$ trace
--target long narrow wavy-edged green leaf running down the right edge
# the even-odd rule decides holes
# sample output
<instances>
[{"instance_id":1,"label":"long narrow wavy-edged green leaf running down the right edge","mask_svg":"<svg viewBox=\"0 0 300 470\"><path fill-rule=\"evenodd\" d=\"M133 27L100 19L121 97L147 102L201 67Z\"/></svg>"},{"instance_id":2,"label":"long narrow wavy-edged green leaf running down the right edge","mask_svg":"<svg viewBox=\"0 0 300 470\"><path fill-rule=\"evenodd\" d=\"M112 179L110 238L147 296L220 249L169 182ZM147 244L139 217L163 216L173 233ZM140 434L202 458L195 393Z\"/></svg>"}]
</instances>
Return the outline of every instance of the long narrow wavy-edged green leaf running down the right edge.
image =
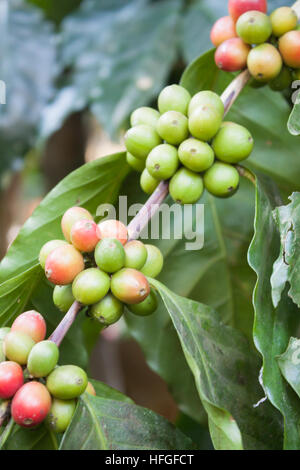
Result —
<instances>
[{"instance_id":1,"label":"long narrow wavy-edged green leaf running down the right edge","mask_svg":"<svg viewBox=\"0 0 300 470\"><path fill-rule=\"evenodd\" d=\"M266 176L257 177L255 235L249 263L257 274L253 303L254 341L263 357L262 384L271 403L284 416L285 449L300 449L300 402L280 373L276 356L287 348L300 326L299 311L286 293L278 307L272 303L270 277L278 255L279 235L272 211L280 204L276 185Z\"/></svg>"}]
</instances>

